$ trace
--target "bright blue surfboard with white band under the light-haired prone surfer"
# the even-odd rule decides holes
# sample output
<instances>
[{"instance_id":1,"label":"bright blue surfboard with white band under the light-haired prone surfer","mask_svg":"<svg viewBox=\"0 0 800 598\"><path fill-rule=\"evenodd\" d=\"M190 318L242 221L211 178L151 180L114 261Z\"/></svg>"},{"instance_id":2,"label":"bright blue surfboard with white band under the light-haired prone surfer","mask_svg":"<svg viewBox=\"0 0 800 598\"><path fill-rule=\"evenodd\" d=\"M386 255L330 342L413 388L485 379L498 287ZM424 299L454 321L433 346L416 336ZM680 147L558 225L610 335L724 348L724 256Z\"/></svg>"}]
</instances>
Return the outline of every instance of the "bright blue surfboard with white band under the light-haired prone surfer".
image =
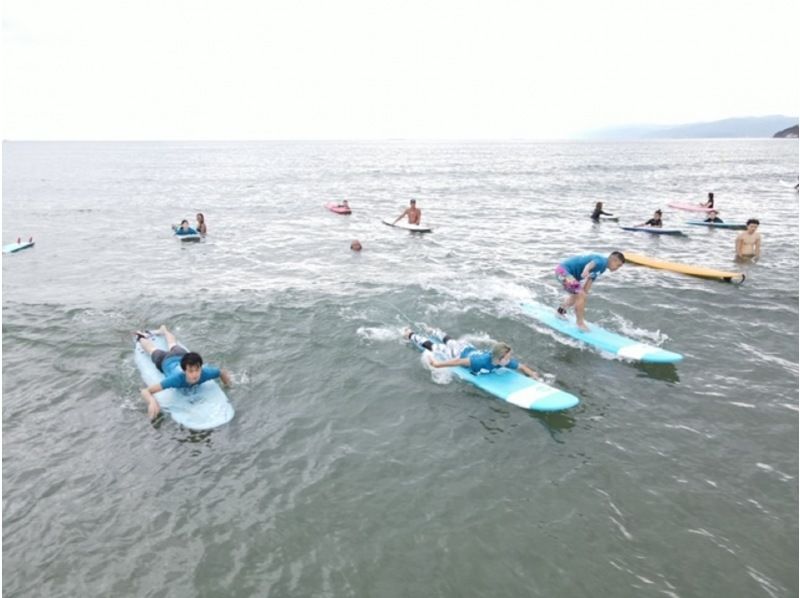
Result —
<instances>
[{"instance_id":1,"label":"bright blue surfboard with white band under the light-haired prone surfer","mask_svg":"<svg viewBox=\"0 0 800 598\"><path fill-rule=\"evenodd\" d=\"M437 361L444 361L450 357L444 353L444 346L441 339L431 336L433 351L412 343L417 350L423 353L430 353ZM437 345L440 347L437 350ZM570 409L580 403L578 397L553 388L544 382L539 382L533 378L528 378L515 370L499 368L491 373L473 374L469 368L456 366L447 368L456 377L465 382L480 388L495 398L498 398L517 407L530 411L563 411Z\"/></svg>"}]
</instances>

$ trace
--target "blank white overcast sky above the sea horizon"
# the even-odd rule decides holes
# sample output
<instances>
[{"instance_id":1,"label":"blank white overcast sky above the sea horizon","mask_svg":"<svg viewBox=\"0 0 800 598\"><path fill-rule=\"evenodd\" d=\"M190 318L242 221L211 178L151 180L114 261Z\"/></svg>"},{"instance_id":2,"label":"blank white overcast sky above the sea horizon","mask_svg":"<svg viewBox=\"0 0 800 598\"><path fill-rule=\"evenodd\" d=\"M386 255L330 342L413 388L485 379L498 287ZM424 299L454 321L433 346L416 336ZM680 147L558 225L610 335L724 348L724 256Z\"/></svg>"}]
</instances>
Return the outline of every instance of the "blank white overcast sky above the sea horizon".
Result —
<instances>
[{"instance_id":1,"label":"blank white overcast sky above the sea horizon","mask_svg":"<svg viewBox=\"0 0 800 598\"><path fill-rule=\"evenodd\" d=\"M797 0L5 0L4 139L553 139L797 115Z\"/></svg>"}]
</instances>

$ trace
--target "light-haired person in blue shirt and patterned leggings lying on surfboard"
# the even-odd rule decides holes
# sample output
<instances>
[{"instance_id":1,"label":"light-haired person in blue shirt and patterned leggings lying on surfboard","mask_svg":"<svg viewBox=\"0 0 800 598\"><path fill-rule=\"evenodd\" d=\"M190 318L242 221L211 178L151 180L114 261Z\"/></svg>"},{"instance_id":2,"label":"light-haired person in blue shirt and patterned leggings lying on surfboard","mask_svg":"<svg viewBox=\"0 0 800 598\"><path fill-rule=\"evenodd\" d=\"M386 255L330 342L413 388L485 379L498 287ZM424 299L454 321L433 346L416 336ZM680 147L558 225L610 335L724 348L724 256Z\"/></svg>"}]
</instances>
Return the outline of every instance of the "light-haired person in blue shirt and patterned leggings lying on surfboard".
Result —
<instances>
[{"instance_id":1,"label":"light-haired person in blue shirt and patterned leggings lying on surfboard","mask_svg":"<svg viewBox=\"0 0 800 598\"><path fill-rule=\"evenodd\" d=\"M416 334L410 328L403 330L403 338L410 340L416 345L433 352L434 344L430 339ZM529 378L541 380L541 376L524 363L518 362L511 357L511 347L506 343L496 343L491 351L479 351L475 346L466 341L453 340L446 334L442 338L442 344L435 345L437 352L450 357L446 361L437 361L433 357L428 359L428 363L434 368L452 368L463 366L469 368L473 374L491 373L498 368L508 368L519 370Z\"/></svg>"}]
</instances>

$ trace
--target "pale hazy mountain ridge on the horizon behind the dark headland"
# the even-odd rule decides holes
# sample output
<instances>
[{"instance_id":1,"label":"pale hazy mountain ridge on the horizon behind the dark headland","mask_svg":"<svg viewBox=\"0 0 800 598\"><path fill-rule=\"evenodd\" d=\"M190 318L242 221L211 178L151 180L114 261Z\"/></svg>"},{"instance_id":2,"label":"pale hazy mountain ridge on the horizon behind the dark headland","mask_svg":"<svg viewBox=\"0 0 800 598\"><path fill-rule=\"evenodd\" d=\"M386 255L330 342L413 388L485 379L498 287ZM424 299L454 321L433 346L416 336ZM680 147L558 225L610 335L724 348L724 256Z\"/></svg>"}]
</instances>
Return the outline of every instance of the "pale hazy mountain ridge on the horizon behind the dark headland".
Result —
<instances>
[{"instance_id":1,"label":"pale hazy mountain ridge on the horizon behind the dark headland","mask_svg":"<svg viewBox=\"0 0 800 598\"><path fill-rule=\"evenodd\" d=\"M749 116L686 125L627 125L588 131L587 139L696 139L772 137L777 130L797 126L796 116Z\"/></svg>"}]
</instances>

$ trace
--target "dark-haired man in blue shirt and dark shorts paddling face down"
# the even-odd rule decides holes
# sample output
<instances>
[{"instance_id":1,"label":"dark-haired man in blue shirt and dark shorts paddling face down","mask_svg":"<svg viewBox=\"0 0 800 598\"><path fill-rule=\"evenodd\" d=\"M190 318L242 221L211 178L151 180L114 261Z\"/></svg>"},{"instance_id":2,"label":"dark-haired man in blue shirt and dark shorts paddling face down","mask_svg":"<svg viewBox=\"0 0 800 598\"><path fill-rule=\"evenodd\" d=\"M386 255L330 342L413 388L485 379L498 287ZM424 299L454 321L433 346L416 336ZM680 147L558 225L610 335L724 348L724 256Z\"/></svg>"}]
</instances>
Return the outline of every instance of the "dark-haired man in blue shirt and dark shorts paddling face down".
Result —
<instances>
[{"instance_id":1,"label":"dark-haired man in blue shirt and dark shorts paddling face down","mask_svg":"<svg viewBox=\"0 0 800 598\"><path fill-rule=\"evenodd\" d=\"M167 351L156 347L155 343L144 332L136 331L136 340L150 356L158 370L164 374L161 382L151 384L142 389L142 398L147 402L147 415L152 420L161 407L155 395L167 388L192 388L206 380L220 378L225 386L231 385L231 375L227 370L213 366L204 366L199 354L187 351L179 346L175 336L163 324L156 334L161 334L167 341Z\"/></svg>"}]
</instances>

